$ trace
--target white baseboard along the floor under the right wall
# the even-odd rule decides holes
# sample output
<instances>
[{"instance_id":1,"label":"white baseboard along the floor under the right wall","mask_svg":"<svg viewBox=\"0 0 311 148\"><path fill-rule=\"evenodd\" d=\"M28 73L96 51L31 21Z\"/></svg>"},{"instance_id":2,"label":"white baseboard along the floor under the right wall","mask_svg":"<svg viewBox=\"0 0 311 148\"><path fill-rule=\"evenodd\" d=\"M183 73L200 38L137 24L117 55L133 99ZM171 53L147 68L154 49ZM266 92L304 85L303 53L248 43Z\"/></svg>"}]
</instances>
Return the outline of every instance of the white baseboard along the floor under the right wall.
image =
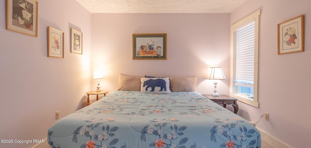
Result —
<instances>
[{"instance_id":1,"label":"white baseboard along the floor under the right wall","mask_svg":"<svg viewBox=\"0 0 311 148\"><path fill-rule=\"evenodd\" d=\"M272 146L273 148L291 148L290 146L288 146L285 143L279 141L278 139L276 139L275 137L269 135L268 133L260 130L259 128L257 128L257 129L260 132L261 139L263 141L265 141L267 144L269 144L270 146Z\"/></svg>"}]
</instances>

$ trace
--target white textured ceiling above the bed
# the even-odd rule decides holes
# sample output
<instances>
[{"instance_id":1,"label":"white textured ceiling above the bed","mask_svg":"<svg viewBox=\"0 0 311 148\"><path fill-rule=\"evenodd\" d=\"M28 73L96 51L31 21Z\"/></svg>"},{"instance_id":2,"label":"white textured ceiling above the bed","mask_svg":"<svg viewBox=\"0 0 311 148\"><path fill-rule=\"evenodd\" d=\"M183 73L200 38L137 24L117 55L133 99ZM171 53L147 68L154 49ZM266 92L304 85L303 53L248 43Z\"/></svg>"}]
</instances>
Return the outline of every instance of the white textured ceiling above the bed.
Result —
<instances>
[{"instance_id":1,"label":"white textured ceiling above the bed","mask_svg":"<svg viewBox=\"0 0 311 148\"><path fill-rule=\"evenodd\" d=\"M231 13L246 0L77 0L90 13Z\"/></svg>"}]
</instances>

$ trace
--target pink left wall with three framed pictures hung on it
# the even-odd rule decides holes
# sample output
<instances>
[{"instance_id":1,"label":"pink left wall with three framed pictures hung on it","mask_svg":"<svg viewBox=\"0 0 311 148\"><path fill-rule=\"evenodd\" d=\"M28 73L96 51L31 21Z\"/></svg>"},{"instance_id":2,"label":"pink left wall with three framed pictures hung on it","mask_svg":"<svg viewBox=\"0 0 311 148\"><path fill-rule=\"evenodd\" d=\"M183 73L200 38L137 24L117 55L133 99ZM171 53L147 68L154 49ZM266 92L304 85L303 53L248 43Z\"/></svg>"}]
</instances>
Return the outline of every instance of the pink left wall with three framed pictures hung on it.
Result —
<instances>
[{"instance_id":1,"label":"pink left wall with three framed pictures hung on it","mask_svg":"<svg viewBox=\"0 0 311 148\"><path fill-rule=\"evenodd\" d=\"M45 139L55 112L65 116L82 108L91 88L91 14L75 0L38 1L38 37L6 30L0 2L0 139ZM65 33L64 59L47 57L47 26ZM70 53L71 27L83 32L83 55Z\"/></svg>"}]
</instances>

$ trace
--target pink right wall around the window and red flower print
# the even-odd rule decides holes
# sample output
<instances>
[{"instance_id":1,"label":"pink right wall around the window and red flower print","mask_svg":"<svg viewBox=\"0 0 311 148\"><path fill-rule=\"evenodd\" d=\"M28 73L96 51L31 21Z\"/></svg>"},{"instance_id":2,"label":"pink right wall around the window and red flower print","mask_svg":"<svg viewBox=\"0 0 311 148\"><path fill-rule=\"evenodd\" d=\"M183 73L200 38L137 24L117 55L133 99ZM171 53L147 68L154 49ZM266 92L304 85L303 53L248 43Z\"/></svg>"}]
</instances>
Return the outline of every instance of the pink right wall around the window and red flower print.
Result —
<instances>
[{"instance_id":1,"label":"pink right wall around the window and red flower print","mask_svg":"<svg viewBox=\"0 0 311 148\"><path fill-rule=\"evenodd\" d=\"M259 26L259 108L240 103L239 115L292 148L309 148L311 83L311 1L248 0L231 13L231 24L261 9ZM277 54L277 24L305 15L305 51Z\"/></svg>"}]
</instances>

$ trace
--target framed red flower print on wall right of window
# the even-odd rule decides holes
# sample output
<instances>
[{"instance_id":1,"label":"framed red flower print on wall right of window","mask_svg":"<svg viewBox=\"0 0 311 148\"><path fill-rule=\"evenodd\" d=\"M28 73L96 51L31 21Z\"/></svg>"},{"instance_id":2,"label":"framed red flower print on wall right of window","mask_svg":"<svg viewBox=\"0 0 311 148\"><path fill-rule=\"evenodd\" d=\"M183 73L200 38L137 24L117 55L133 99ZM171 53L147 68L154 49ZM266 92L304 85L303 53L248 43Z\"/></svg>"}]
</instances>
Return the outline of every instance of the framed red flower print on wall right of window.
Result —
<instances>
[{"instance_id":1,"label":"framed red flower print on wall right of window","mask_svg":"<svg viewBox=\"0 0 311 148\"><path fill-rule=\"evenodd\" d=\"M277 24L277 54L304 51L304 16Z\"/></svg>"}]
</instances>

